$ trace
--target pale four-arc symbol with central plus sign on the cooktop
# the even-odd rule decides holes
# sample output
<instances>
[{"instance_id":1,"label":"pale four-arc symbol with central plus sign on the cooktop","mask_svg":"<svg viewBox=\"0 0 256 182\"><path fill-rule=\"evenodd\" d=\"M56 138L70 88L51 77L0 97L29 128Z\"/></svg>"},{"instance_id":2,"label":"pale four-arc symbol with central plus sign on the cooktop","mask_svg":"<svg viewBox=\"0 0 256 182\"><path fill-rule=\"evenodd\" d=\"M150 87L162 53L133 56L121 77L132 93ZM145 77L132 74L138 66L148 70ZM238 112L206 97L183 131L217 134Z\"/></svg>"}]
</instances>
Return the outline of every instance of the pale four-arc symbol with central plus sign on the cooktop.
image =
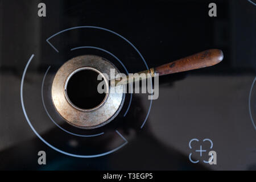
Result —
<instances>
[{"instance_id":1,"label":"pale four-arc symbol with central plus sign on the cooktop","mask_svg":"<svg viewBox=\"0 0 256 182\"><path fill-rule=\"evenodd\" d=\"M193 143L195 143L195 142L199 142L199 139L193 138L193 139L191 139L191 140L189 141L188 146L189 146L189 148L190 148L191 150L192 150L192 148L193 148L193 147L192 147L192 146L193 146ZM209 144L206 144L207 142L210 144L210 148L209 148ZM205 144L204 144L204 143L205 143ZM189 154L188 158L189 158L190 162L192 162L192 163L199 163L199 160L192 160L192 158L191 158L192 154L195 154L195 153L200 154L200 158L201 158L201 157L203 156L203 154L204 154L205 152L207 152L206 149L212 149L212 148L213 148L213 142L212 142L212 140L210 140L210 139L208 139L208 138L205 138L205 139L203 140L203 144L201 144L201 145L199 146L199 148L196 148L196 149L193 148L193 152L191 152L191 153ZM216 158L217 158L216 152L215 152L215 151L209 151L209 156L210 156L209 160L203 160L203 162L204 162L204 163L209 163L209 164L217 164L217 163L216 163Z\"/></svg>"}]
</instances>

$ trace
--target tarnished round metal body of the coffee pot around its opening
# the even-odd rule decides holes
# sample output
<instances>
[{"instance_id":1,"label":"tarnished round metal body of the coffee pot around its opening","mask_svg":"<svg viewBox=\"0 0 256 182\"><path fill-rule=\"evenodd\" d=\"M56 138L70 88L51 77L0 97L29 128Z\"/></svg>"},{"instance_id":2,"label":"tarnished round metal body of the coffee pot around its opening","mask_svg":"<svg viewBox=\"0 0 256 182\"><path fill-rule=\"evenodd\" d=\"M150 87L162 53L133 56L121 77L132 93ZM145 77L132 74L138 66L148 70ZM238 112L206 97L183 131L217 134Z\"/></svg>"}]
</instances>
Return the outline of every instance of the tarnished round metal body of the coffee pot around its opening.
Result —
<instances>
[{"instance_id":1,"label":"tarnished round metal body of the coffee pot around its opening","mask_svg":"<svg viewBox=\"0 0 256 182\"><path fill-rule=\"evenodd\" d=\"M85 55L75 57L67 61L57 71L52 83L52 102L57 112L69 124L82 128L94 129L101 127L112 121L112 119L119 113L123 105L125 94L123 85L110 87L109 93L100 105L92 109L80 109L72 105L67 96L65 88L67 86L67 79L77 69L96 69L99 73L106 73L110 78L110 69L115 69L115 73L119 73L118 69L114 67L108 60L94 55ZM106 82L108 84L108 81ZM115 89L115 92L113 90ZM66 94L65 94L66 93Z\"/></svg>"}]
</instances>

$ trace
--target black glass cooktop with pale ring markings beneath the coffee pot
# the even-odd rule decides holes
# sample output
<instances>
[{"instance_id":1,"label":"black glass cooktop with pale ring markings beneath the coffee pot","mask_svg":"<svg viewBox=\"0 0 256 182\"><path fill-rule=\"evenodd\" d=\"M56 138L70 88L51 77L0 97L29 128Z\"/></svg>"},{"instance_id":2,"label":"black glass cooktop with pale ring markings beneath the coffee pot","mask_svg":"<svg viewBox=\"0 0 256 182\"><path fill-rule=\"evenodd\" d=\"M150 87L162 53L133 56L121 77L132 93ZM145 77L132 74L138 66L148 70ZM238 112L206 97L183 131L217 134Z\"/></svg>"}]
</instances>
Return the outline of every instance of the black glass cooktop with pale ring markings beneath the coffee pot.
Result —
<instances>
[{"instance_id":1,"label":"black glass cooktop with pale ring markings beneath the coffee pot","mask_svg":"<svg viewBox=\"0 0 256 182\"><path fill-rule=\"evenodd\" d=\"M255 170L254 2L0 1L0 169ZM97 129L69 125L52 104L73 57L127 75L206 49L224 59L160 76L155 100L126 93Z\"/></svg>"}]
</instances>

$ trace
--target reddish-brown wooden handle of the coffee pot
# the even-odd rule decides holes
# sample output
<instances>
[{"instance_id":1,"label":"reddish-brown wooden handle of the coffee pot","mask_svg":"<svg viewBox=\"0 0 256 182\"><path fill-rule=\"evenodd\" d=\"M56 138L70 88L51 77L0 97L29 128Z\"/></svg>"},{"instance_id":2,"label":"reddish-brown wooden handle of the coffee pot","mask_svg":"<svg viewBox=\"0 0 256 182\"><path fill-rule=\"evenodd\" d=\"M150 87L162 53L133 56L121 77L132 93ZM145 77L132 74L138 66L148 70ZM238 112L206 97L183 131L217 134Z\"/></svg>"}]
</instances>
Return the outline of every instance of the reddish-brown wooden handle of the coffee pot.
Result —
<instances>
[{"instance_id":1,"label":"reddish-brown wooden handle of the coffee pot","mask_svg":"<svg viewBox=\"0 0 256 182\"><path fill-rule=\"evenodd\" d=\"M220 49L208 49L188 57L173 61L154 68L155 73L168 75L171 73L184 72L192 69L210 67L223 60L223 52Z\"/></svg>"}]
</instances>

